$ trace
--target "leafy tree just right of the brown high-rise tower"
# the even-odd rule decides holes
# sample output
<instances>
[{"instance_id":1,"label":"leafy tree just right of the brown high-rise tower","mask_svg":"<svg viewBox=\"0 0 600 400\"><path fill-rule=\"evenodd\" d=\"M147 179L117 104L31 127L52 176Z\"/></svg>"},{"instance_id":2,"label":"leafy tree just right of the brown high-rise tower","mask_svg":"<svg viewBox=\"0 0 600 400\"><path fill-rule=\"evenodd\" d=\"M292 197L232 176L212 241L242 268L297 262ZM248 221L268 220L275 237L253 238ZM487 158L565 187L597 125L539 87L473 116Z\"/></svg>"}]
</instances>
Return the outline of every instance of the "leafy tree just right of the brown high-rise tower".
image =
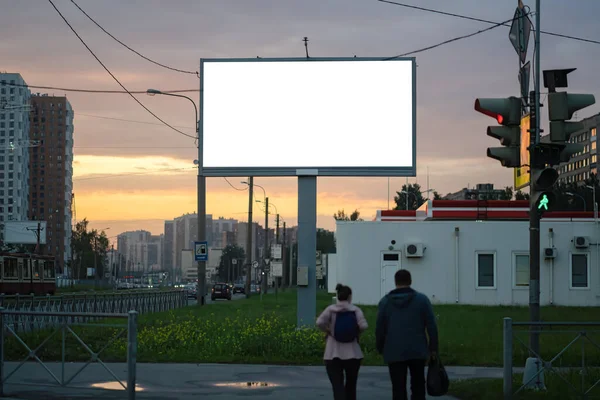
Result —
<instances>
[{"instance_id":1,"label":"leafy tree just right of the brown high-rise tower","mask_svg":"<svg viewBox=\"0 0 600 400\"><path fill-rule=\"evenodd\" d=\"M71 237L73 254L73 277L83 279L87 269L97 267L96 278L104 276L106 254L108 253L108 238L104 231L88 231L89 221L83 219L75 225Z\"/></svg>"}]
</instances>

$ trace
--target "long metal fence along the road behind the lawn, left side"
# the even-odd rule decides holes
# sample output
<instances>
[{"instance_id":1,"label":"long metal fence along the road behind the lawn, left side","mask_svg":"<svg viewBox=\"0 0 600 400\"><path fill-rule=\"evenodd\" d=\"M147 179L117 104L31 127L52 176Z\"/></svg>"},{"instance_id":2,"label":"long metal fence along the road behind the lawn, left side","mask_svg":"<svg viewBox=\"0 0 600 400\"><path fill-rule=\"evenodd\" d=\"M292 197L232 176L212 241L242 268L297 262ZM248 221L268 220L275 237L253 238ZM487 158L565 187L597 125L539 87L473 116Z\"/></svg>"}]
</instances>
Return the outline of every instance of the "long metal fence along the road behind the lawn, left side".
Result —
<instances>
[{"instance_id":1,"label":"long metal fence along the road behind the lawn, left side","mask_svg":"<svg viewBox=\"0 0 600 400\"><path fill-rule=\"evenodd\" d=\"M35 311L37 314L6 314L5 323L15 331L32 331L53 327L61 319L56 313L76 313L73 323L103 318L99 315L121 314L130 310L140 314L173 310L187 306L184 290L139 291L106 294L66 294L61 296L0 295L0 307L9 311Z\"/></svg>"}]
</instances>

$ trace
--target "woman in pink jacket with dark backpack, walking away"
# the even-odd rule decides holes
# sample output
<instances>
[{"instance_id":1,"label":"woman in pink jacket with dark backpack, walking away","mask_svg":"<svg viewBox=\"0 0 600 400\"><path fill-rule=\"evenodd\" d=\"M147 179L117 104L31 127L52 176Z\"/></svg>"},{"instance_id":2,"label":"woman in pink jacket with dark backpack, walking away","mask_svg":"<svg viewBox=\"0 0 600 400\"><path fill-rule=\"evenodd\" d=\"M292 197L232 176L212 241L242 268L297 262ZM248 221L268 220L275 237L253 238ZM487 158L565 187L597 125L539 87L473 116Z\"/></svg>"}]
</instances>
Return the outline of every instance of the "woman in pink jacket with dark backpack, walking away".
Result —
<instances>
[{"instance_id":1,"label":"woman in pink jacket with dark backpack, walking away","mask_svg":"<svg viewBox=\"0 0 600 400\"><path fill-rule=\"evenodd\" d=\"M337 304L317 318L317 327L327 334L325 368L334 400L356 400L356 382L363 353L359 335L368 327L362 310L352 304L352 289L338 284Z\"/></svg>"}]
</instances>

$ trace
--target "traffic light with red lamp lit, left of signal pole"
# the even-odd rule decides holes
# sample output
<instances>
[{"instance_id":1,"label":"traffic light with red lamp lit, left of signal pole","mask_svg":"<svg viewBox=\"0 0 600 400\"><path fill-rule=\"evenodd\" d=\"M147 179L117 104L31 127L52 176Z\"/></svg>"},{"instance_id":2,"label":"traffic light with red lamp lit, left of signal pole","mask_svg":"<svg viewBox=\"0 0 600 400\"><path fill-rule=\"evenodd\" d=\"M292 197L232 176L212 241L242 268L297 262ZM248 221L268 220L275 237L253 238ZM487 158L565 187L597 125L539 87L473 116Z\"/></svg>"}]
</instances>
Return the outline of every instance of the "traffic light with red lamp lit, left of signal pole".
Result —
<instances>
[{"instance_id":1,"label":"traffic light with red lamp lit, left of signal pole","mask_svg":"<svg viewBox=\"0 0 600 400\"><path fill-rule=\"evenodd\" d=\"M487 156L503 167L521 166L521 99L476 99L475 111L495 118L501 126L488 126L487 135L500 140L504 147L489 147Z\"/></svg>"}]
</instances>

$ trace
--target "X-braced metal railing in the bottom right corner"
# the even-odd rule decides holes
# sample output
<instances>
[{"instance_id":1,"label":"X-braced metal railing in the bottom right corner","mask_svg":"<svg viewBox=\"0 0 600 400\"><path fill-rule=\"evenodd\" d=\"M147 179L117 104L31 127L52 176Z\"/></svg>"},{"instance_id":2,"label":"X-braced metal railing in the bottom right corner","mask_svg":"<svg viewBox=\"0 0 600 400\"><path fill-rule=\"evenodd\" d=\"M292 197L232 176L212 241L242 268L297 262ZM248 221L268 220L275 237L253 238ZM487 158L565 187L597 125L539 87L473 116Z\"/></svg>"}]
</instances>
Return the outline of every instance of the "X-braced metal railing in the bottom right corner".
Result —
<instances>
[{"instance_id":1,"label":"X-braced metal railing in the bottom right corner","mask_svg":"<svg viewBox=\"0 0 600 400\"><path fill-rule=\"evenodd\" d=\"M528 327L529 329L519 329L520 327ZM517 329L513 329L517 328ZM596 329L594 329L596 328ZM600 322L514 322L512 318L504 318L504 399L512 399L514 395L522 392L532 383L540 383L540 376L545 372L551 373L553 376L560 377L562 381L570 389L571 393L580 398L587 398L591 391L598 385L600 385L600 379L592 383L590 387L586 387L585 376L586 376L586 353L585 343L588 342L595 348L600 350L600 345L594 341L589 333L598 332L600 328ZM544 360L540 354L537 354L531 349L531 347L519 338L515 331L526 332L526 333L537 333L537 334L571 334L573 337L569 342L551 359ZM520 343L528 352L531 357L537 358L538 369L527 382L524 382L516 391L513 392L513 339L516 339L517 343ZM556 367L554 364L561 359L566 351L572 348L575 344L581 345L581 365L575 368L564 368ZM575 386L572 382L564 377L560 373L560 370L576 370L581 375L581 385Z\"/></svg>"}]
</instances>

